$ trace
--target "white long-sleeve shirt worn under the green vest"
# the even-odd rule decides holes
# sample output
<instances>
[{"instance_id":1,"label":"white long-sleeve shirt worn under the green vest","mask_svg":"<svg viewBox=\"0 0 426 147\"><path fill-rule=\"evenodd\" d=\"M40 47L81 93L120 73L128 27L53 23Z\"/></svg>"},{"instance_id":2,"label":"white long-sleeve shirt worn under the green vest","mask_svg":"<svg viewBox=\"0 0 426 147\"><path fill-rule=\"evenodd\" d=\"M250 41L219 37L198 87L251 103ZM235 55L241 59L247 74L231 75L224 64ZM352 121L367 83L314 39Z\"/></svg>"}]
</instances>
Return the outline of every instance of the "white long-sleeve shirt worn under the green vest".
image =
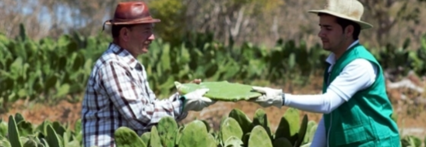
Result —
<instances>
[{"instance_id":1,"label":"white long-sleeve shirt worn under the green vest","mask_svg":"<svg viewBox=\"0 0 426 147\"><path fill-rule=\"evenodd\" d=\"M351 44L357 43L355 41ZM349 46L348 48L350 48ZM326 60L332 66L335 64L334 54ZM355 59L330 83L327 92L319 95L292 95L285 94L284 105L299 110L317 113L330 113L338 108L358 91L368 88L376 79L377 67L366 59ZM326 147L326 129L321 118L311 147Z\"/></svg>"}]
</instances>

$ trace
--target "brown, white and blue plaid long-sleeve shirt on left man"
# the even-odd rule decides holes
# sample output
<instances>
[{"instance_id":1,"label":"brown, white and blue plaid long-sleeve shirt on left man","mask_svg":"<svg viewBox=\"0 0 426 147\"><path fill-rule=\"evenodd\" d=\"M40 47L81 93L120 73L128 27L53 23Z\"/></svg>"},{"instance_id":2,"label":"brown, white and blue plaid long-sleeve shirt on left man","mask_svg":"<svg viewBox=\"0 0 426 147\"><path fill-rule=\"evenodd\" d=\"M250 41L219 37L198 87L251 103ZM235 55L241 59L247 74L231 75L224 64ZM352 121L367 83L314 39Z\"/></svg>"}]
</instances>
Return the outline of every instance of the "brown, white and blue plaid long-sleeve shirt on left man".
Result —
<instances>
[{"instance_id":1,"label":"brown, white and blue plaid long-sleeve shirt on left man","mask_svg":"<svg viewBox=\"0 0 426 147\"><path fill-rule=\"evenodd\" d=\"M114 131L129 127L139 136L162 117L177 121L181 112L178 93L158 100L149 88L145 69L127 50L111 43L96 61L82 104L84 147L115 147Z\"/></svg>"}]
</instances>

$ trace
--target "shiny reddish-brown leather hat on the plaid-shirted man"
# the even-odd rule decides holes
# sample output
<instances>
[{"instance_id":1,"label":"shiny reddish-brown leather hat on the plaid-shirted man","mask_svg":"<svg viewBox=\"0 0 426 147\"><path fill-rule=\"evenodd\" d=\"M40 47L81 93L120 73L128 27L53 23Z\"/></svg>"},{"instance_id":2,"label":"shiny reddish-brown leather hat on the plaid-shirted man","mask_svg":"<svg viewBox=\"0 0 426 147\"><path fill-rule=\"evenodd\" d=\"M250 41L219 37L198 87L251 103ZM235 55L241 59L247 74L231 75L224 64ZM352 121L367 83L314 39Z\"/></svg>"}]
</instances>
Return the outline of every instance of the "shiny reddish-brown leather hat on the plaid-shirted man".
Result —
<instances>
[{"instance_id":1,"label":"shiny reddish-brown leather hat on the plaid-shirted man","mask_svg":"<svg viewBox=\"0 0 426 147\"><path fill-rule=\"evenodd\" d=\"M154 19L149 13L148 6L143 1L130 1L118 3L114 18L105 21L107 25L130 25L143 23L156 23L159 19Z\"/></svg>"}]
</instances>

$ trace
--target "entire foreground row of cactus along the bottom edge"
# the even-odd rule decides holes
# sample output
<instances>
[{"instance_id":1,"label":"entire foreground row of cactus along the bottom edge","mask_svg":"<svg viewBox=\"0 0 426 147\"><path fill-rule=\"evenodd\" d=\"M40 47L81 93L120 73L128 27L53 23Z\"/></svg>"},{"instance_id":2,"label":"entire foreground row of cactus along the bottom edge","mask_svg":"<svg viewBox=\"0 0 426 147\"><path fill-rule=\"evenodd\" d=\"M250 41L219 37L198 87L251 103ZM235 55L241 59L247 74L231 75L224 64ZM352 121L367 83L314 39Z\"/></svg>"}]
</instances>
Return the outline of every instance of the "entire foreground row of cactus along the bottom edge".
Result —
<instances>
[{"instance_id":1,"label":"entire foreground row of cactus along the bottom edge","mask_svg":"<svg viewBox=\"0 0 426 147\"><path fill-rule=\"evenodd\" d=\"M307 115L303 115L298 127L283 127L285 122L297 122L299 115L289 115L299 113L298 110L287 110L276 130L271 130L269 121L264 111L256 110L253 121L241 110L234 109L220 124L219 130L209 130L208 124L204 120L193 120L188 124L178 125L172 117L163 117L159 123L152 126L150 132L145 132L141 136L127 127L120 127L114 132L117 147L309 147L312 143L318 124L315 121L308 121ZM237 115L236 115L237 114ZM2 126L7 128L6 134L0 134L0 146L3 147L83 147L80 120L74 125L74 130L68 124L61 124L57 121L44 121L36 126L22 120L16 121L20 113L15 116L10 115L8 123ZM246 119L235 119L235 116ZM260 120L260 121L259 121ZM248 132L243 131L240 124L252 126ZM22 122L28 122L31 132L23 133L27 130ZM0 124L2 121L0 120ZM299 128L299 129L297 129ZM63 130L64 129L64 130ZM62 133L59 133L62 132ZM276 133L274 133L276 132ZM277 134L291 134L292 136L281 136ZM23 135L25 134L25 135ZM401 147L422 147L420 138L413 135L401 137Z\"/></svg>"}]
</instances>

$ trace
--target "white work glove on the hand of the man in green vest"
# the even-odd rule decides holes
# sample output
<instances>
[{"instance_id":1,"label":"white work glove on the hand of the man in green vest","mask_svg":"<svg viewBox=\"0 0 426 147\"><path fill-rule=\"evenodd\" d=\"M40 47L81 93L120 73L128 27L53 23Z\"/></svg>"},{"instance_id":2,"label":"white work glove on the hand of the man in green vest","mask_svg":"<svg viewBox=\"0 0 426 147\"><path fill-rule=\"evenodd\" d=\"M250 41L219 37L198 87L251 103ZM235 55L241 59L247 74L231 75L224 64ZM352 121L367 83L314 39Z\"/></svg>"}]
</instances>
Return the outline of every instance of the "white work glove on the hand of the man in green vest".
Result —
<instances>
[{"instance_id":1,"label":"white work glove on the hand of the man in green vest","mask_svg":"<svg viewBox=\"0 0 426 147\"><path fill-rule=\"evenodd\" d=\"M283 90L257 86L253 86L252 88L256 92L263 93L263 95L250 101L257 103L264 108L270 106L281 108L283 106Z\"/></svg>"}]
</instances>

